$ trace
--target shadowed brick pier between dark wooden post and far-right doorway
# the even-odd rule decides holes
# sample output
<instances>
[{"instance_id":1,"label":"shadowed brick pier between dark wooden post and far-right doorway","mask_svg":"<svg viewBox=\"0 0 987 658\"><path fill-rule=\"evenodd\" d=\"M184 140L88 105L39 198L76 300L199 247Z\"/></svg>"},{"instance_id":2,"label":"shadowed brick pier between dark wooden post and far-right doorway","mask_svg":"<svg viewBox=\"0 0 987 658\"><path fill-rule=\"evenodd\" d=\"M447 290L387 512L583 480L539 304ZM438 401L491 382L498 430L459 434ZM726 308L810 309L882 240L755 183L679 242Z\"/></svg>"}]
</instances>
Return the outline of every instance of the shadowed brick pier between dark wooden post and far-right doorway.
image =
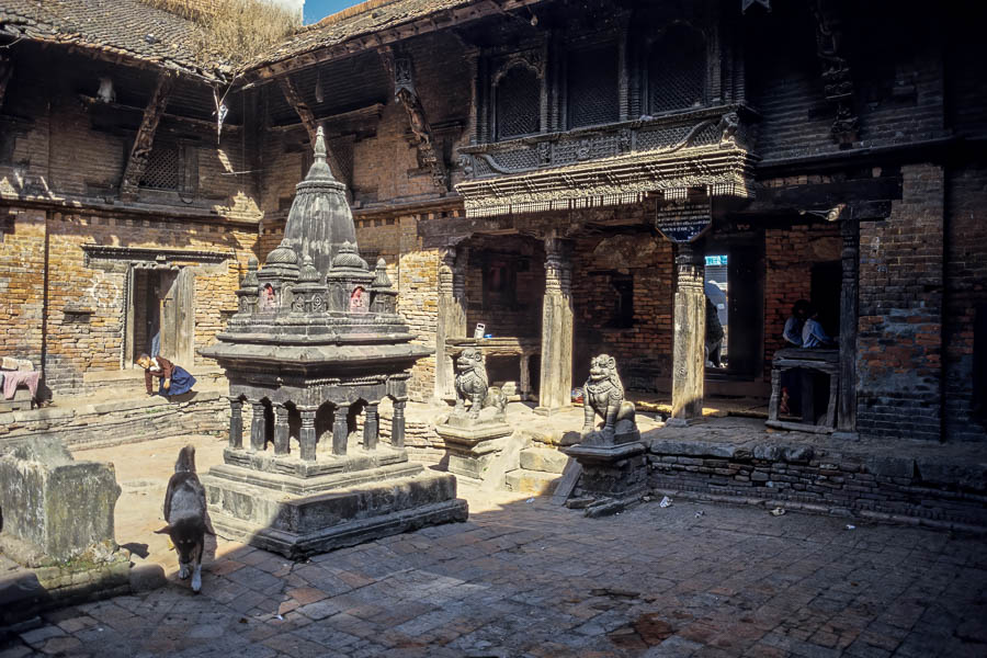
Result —
<instances>
[{"instance_id":1,"label":"shadowed brick pier between dark wooden post and far-right doorway","mask_svg":"<svg viewBox=\"0 0 987 658\"><path fill-rule=\"evenodd\" d=\"M858 430L940 439L943 171L901 169L890 217L860 227Z\"/></svg>"}]
</instances>

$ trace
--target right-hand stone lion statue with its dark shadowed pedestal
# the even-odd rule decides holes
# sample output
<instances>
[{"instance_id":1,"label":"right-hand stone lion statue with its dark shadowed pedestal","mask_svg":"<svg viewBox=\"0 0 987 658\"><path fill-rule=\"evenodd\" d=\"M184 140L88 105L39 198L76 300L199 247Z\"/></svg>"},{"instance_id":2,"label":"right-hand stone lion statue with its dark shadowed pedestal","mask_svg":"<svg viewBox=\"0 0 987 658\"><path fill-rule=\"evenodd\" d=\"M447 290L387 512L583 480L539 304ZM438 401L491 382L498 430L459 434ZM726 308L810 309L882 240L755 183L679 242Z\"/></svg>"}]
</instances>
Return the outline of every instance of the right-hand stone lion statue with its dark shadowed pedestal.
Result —
<instances>
[{"instance_id":1,"label":"right-hand stone lion statue with its dark shadowed pedestal","mask_svg":"<svg viewBox=\"0 0 987 658\"><path fill-rule=\"evenodd\" d=\"M647 491L647 449L640 441L634 405L624 399L613 356L600 354L593 359L583 399L580 442L563 452L582 467L574 497L592 499L586 513L599 517L625 509ZM597 416L603 419L599 428L593 427Z\"/></svg>"}]
</instances>

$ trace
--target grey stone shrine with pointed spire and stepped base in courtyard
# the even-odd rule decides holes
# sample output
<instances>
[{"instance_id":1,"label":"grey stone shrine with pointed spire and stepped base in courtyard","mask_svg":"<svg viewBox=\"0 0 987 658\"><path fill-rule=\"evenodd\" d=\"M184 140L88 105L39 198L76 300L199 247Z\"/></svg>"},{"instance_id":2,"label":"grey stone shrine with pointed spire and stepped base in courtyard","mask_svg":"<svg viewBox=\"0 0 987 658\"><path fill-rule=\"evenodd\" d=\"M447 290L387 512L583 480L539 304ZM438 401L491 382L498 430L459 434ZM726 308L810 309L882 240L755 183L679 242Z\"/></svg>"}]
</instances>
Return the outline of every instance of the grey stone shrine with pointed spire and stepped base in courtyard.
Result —
<instances>
[{"instance_id":1,"label":"grey stone shrine with pointed spire and stepped base in courtyard","mask_svg":"<svg viewBox=\"0 0 987 658\"><path fill-rule=\"evenodd\" d=\"M407 382L430 350L411 342L384 260L371 270L355 236L319 128L281 246L250 263L239 311L202 350L229 379L225 463L203 477L224 536L299 557L466 519L455 477L408 460Z\"/></svg>"}]
</instances>

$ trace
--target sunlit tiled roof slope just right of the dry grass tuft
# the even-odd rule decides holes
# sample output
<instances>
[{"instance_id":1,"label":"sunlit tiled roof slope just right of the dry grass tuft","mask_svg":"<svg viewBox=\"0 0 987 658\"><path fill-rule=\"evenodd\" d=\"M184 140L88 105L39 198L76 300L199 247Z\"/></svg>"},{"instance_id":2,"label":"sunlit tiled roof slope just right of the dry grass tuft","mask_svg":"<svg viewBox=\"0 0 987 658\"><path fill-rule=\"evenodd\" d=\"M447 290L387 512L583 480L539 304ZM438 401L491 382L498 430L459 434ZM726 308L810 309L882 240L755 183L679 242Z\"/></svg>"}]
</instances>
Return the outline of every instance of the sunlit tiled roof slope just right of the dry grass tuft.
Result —
<instances>
[{"instance_id":1,"label":"sunlit tiled roof slope just right of the dry grass tuft","mask_svg":"<svg viewBox=\"0 0 987 658\"><path fill-rule=\"evenodd\" d=\"M254 66L333 46L355 36L372 34L429 14L466 7L476 0L368 0L300 30L283 45L273 48Z\"/></svg>"}]
</instances>

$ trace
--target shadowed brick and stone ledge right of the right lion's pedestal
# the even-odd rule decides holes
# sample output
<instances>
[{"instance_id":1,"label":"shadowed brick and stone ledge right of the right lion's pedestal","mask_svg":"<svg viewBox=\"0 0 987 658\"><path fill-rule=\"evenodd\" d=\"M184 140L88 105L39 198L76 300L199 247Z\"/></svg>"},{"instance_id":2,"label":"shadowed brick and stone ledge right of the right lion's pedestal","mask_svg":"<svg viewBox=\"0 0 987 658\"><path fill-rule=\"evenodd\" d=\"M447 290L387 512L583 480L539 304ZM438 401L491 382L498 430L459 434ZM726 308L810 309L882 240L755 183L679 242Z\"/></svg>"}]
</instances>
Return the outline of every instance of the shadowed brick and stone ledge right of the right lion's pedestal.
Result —
<instances>
[{"instance_id":1,"label":"shadowed brick and stone ledge right of the right lion's pedestal","mask_svg":"<svg viewBox=\"0 0 987 658\"><path fill-rule=\"evenodd\" d=\"M976 444L860 443L722 420L648 432L649 486L687 498L987 531L987 463Z\"/></svg>"}]
</instances>

